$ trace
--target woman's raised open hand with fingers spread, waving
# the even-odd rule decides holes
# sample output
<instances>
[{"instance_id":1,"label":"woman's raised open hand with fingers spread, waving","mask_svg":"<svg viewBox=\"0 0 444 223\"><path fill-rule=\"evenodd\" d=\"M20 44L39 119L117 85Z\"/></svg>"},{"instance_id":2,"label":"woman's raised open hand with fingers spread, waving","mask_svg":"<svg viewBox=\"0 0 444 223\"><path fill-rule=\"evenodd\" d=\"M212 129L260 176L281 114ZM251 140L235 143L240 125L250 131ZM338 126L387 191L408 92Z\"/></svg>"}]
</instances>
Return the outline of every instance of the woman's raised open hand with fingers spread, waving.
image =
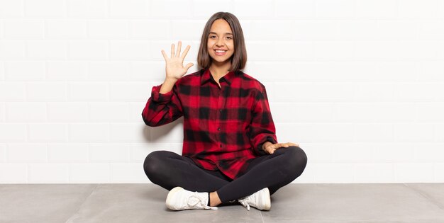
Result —
<instances>
[{"instance_id":1,"label":"woman's raised open hand with fingers spread, waving","mask_svg":"<svg viewBox=\"0 0 444 223\"><path fill-rule=\"evenodd\" d=\"M174 81L177 81L178 79L182 78L185 74L187 74L187 71L190 67L192 67L194 64L189 63L187 66L183 66L185 56L187 56L187 52L189 48L191 47L188 45L184 52L182 53L182 56L180 55L180 48L182 47L182 42L179 41L177 43L177 52L174 54L174 43L171 45L171 58L167 57L167 54L164 50L162 50L162 55L165 58L166 66L165 71L167 73L166 79L171 79Z\"/></svg>"}]
</instances>

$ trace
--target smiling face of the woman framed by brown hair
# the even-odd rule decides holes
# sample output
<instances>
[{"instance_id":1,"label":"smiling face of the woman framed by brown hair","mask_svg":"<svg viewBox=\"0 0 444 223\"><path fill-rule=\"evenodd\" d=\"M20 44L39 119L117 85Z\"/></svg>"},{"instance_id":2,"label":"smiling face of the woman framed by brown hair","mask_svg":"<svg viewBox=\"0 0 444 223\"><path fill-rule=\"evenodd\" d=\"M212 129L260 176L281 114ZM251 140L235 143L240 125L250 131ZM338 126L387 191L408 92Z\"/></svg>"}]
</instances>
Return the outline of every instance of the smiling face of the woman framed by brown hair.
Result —
<instances>
[{"instance_id":1,"label":"smiling face of the woman framed by brown hair","mask_svg":"<svg viewBox=\"0 0 444 223\"><path fill-rule=\"evenodd\" d=\"M224 19L217 19L211 25L207 49L213 62L230 62L234 54L233 32Z\"/></svg>"}]
</instances>

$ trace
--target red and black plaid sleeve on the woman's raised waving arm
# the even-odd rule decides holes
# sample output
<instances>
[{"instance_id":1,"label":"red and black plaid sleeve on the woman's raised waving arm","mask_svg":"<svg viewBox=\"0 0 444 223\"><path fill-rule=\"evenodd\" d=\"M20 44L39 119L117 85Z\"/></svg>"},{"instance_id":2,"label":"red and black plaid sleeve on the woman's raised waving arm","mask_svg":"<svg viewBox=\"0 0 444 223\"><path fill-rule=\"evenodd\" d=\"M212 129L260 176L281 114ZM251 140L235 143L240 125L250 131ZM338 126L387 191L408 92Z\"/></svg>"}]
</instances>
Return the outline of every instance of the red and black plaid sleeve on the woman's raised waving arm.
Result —
<instances>
[{"instance_id":1,"label":"red and black plaid sleeve on the woman's raised waving arm","mask_svg":"<svg viewBox=\"0 0 444 223\"><path fill-rule=\"evenodd\" d=\"M148 126L166 125L180 118L182 113L182 105L177 96L177 81L172 90L167 93L160 93L159 86L153 86L151 89L151 97L143 108L142 118Z\"/></svg>"}]
</instances>

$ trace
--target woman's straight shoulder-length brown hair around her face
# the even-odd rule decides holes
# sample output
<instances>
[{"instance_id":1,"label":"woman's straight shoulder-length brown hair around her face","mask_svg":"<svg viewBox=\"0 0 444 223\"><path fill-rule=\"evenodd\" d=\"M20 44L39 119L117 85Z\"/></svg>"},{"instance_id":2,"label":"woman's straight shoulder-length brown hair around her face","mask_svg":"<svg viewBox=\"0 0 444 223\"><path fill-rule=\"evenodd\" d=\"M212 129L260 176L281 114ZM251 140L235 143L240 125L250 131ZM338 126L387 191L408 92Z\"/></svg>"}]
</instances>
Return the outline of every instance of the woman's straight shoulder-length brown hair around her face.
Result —
<instances>
[{"instance_id":1,"label":"woman's straight shoulder-length brown hair around her face","mask_svg":"<svg viewBox=\"0 0 444 223\"><path fill-rule=\"evenodd\" d=\"M210 67L212 58L208 53L206 44L208 42L211 25L213 25L214 21L220 18L227 21L231 30L233 31L234 53L233 56L231 56L231 67L228 69L228 71L231 72L243 69L247 63L247 49L245 48L242 28L240 27L240 23L236 16L234 16L232 13L223 11L214 13L213 16L211 16L211 18L209 18L209 20L206 22L204 32L202 33L199 53L197 55L197 64L199 64L199 67L204 69L208 69Z\"/></svg>"}]
</instances>

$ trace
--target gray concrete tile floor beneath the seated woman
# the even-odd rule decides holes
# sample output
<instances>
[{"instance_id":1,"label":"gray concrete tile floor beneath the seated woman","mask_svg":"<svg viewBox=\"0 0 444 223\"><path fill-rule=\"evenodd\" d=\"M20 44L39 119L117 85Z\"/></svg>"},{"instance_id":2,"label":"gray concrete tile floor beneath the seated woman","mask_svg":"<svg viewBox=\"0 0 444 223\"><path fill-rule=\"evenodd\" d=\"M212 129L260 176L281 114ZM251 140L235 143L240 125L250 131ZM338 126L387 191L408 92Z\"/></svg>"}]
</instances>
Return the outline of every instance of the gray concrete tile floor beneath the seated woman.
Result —
<instances>
[{"instance_id":1,"label":"gray concrete tile floor beneath the seated woman","mask_svg":"<svg viewBox=\"0 0 444 223\"><path fill-rule=\"evenodd\" d=\"M0 222L444 222L443 183L289 184L270 211L170 211L153 184L0 184Z\"/></svg>"}]
</instances>

